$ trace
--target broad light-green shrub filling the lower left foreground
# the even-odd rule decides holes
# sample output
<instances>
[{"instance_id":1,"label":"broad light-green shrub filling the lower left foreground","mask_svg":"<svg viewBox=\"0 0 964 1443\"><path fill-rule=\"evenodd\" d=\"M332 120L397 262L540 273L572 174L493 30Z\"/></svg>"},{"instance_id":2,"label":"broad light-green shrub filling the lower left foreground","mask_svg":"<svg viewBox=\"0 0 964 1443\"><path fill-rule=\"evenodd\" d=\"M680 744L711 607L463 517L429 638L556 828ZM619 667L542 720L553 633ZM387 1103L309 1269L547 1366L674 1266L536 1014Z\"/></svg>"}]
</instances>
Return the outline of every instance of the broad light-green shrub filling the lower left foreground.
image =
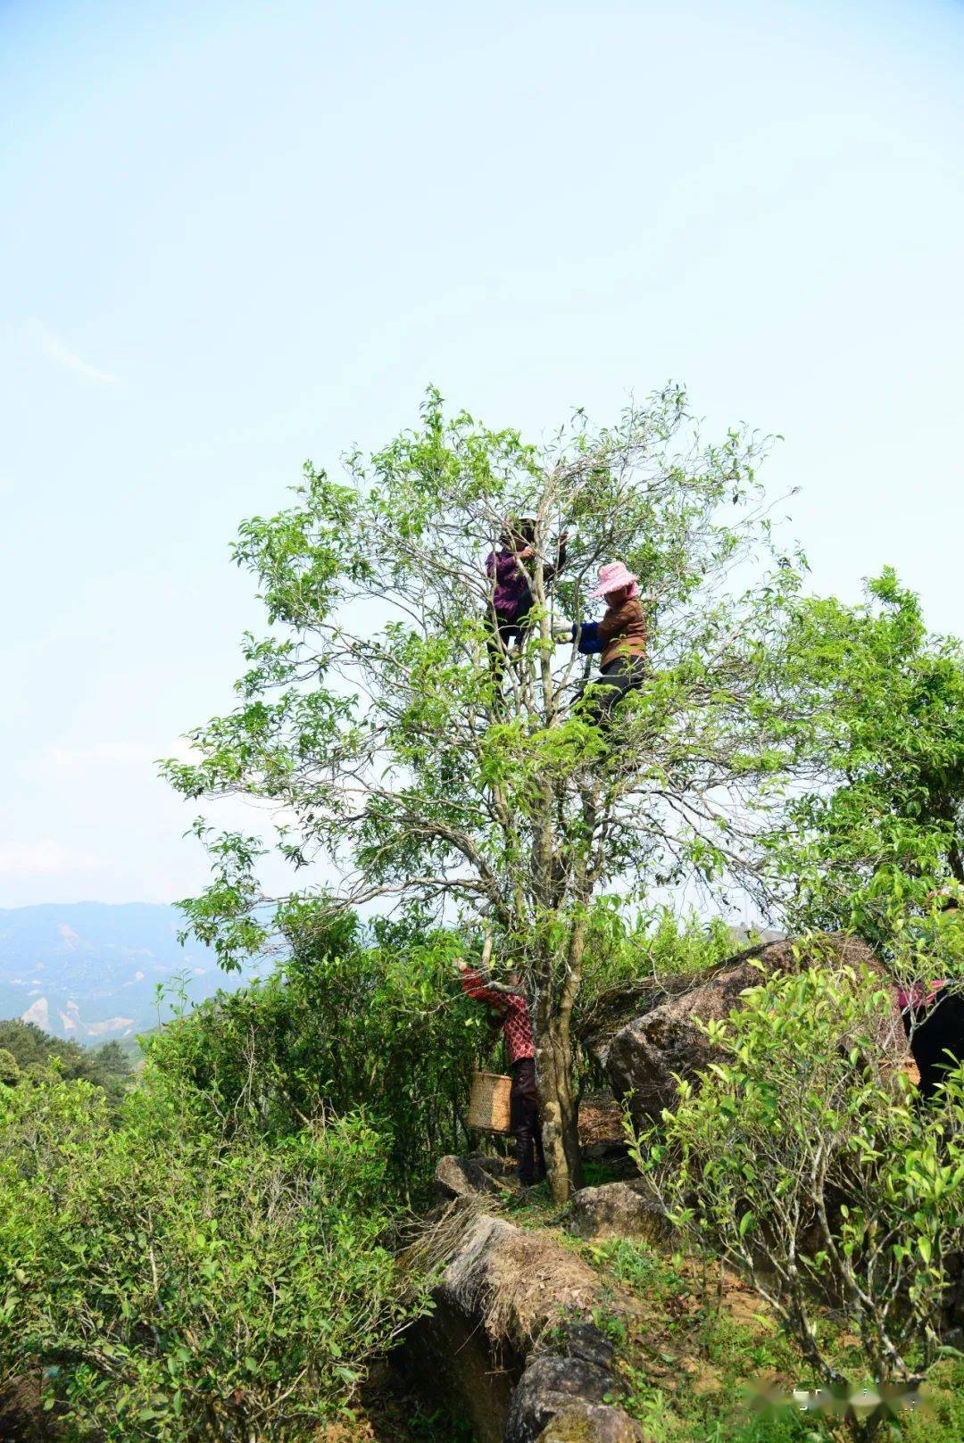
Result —
<instances>
[{"instance_id":1,"label":"broad light-green shrub filling the lower left foreground","mask_svg":"<svg viewBox=\"0 0 964 1443\"><path fill-rule=\"evenodd\" d=\"M266 1141L149 1068L0 1089L0 1384L48 1369L72 1437L296 1440L417 1306L361 1118Z\"/></svg>"}]
</instances>

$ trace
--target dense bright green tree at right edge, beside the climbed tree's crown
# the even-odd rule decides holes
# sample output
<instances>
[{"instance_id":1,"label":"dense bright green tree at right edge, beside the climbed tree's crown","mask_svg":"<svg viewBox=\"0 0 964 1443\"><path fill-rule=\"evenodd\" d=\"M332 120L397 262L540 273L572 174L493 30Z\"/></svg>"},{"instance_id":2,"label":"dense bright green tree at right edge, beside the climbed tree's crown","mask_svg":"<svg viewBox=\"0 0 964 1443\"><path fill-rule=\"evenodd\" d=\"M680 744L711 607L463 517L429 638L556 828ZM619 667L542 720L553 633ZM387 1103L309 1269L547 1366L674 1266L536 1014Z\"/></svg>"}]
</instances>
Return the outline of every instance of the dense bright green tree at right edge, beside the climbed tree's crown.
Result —
<instances>
[{"instance_id":1,"label":"dense bright green tree at right edge, beside the climbed tree's crown","mask_svg":"<svg viewBox=\"0 0 964 1443\"><path fill-rule=\"evenodd\" d=\"M802 926L889 942L892 916L964 883L964 648L892 570L866 600L801 599L781 677L798 786L768 848Z\"/></svg>"}]
</instances>

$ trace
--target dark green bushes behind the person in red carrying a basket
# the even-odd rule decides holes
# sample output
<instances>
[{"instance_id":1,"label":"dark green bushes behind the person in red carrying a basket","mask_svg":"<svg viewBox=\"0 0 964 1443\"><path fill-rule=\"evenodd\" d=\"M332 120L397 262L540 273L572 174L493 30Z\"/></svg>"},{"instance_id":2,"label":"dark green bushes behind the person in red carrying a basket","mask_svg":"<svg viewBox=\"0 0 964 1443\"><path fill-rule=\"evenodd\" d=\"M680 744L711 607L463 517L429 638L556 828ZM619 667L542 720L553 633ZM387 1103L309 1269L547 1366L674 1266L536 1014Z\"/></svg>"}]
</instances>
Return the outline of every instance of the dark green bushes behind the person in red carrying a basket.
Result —
<instances>
[{"instance_id":1,"label":"dark green bushes behind the person in red carrying a basket","mask_svg":"<svg viewBox=\"0 0 964 1443\"><path fill-rule=\"evenodd\" d=\"M150 1056L268 1139L364 1107L385 1139L387 1180L410 1199L442 1153L465 1147L472 1068L494 1039L453 978L456 945L388 924L302 941L283 971L153 1038Z\"/></svg>"}]
</instances>

